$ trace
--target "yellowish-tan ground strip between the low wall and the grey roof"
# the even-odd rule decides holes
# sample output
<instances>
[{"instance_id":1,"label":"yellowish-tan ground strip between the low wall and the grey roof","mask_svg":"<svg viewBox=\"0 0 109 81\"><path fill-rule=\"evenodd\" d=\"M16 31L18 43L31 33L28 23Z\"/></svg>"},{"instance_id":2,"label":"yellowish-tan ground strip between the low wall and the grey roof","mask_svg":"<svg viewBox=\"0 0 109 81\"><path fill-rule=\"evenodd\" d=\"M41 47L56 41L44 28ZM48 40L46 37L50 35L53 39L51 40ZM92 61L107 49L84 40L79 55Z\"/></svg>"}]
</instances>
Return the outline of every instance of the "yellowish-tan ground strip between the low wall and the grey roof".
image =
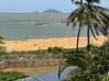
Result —
<instances>
[{"instance_id":1,"label":"yellowish-tan ground strip between the low wall and the grey roof","mask_svg":"<svg viewBox=\"0 0 109 81\"><path fill-rule=\"evenodd\" d=\"M36 68L7 68L2 69L3 72L17 71L23 73L24 76L41 74L51 71L58 70L58 66L55 67L36 67Z\"/></svg>"}]
</instances>

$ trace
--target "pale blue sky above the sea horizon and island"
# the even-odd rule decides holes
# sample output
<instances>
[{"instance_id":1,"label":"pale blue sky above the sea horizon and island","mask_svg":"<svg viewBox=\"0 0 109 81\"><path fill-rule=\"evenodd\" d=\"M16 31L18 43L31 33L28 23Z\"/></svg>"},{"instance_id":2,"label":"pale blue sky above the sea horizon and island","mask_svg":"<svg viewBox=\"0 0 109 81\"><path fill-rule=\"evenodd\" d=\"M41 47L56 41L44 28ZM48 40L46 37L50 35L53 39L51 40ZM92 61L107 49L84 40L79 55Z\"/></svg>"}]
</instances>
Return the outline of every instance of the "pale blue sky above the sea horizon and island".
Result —
<instances>
[{"instance_id":1,"label":"pale blue sky above the sea horizon and island","mask_svg":"<svg viewBox=\"0 0 109 81\"><path fill-rule=\"evenodd\" d=\"M72 0L0 0L0 12L35 12L47 9L56 9L70 12L75 5ZM101 0L101 4L109 8L109 0Z\"/></svg>"}]
</instances>

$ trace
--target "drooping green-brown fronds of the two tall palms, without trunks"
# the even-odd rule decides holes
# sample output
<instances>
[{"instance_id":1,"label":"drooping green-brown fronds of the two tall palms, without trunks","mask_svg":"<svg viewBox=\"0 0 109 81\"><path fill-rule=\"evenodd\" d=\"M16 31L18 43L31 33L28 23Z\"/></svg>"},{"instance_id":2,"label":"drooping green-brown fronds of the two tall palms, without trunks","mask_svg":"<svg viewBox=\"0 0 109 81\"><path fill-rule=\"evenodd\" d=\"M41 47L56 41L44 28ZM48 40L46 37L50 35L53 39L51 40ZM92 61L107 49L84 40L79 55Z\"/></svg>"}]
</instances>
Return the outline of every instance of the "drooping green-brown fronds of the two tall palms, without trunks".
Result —
<instances>
[{"instance_id":1,"label":"drooping green-brown fronds of the two tall palms, without trunks","mask_svg":"<svg viewBox=\"0 0 109 81\"><path fill-rule=\"evenodd\" d=\"M72 23L73 28L81 25L89 27L95 39L97 39L96 35L99 36L99 32L102 35L107 36L107 27L109 26L109 15L105 13L105 8L100 8L97 5L88 5L87 3L80 4L78 9L76 9L67 19L67 25ZM95 32L94 32L95 31Z\"/></svg>"}]
</instances>

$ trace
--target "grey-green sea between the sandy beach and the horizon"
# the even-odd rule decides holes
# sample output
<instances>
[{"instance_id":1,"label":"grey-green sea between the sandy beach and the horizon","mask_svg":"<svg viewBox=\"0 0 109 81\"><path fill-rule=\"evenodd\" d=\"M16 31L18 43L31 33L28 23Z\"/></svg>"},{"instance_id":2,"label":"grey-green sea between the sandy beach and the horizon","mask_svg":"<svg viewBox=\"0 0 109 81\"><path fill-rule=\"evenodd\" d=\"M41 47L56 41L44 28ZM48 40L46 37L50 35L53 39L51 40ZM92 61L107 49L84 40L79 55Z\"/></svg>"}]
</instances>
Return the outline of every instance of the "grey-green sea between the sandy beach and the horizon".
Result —
<instances>
[{"instance_id":1,"label":"grey-green sea between the sandy beach and the horizon","mask_svg":"<svg viewBox=\"0 0 109 81\"><path fill-rule=\"evenodd\" d=\"M6 40L76 37L78 26L66 26L69 13L0 13L0 36ZM80 36L86 35L83 28Z\"/></svg>"}]
</instances>

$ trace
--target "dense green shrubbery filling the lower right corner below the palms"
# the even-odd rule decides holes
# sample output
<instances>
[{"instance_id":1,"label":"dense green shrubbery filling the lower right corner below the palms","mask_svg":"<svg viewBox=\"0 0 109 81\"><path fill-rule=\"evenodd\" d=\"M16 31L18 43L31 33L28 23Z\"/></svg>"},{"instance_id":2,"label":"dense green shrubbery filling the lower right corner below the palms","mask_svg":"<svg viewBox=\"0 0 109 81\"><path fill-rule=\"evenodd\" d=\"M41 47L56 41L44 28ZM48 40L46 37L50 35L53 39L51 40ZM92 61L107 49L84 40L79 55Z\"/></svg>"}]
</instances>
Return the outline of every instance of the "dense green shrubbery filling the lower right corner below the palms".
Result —
<instances>
[{"instance_id":1,"label":"dense green shrubbery filling the lower right corner below the palms","mask_svg":"<svg viewBox=\"0 0 109 81\"><path fill-rule=\"evenodd\" d=\"M106 46L90 46L86 53L73 53L64 55L64 65L58 70L58 77L67 67L75 66L79 70L69 73L67 81L109 81L109 59ZM106 80L107 79L107 80Z\"/></svg>"}]
</instances>

